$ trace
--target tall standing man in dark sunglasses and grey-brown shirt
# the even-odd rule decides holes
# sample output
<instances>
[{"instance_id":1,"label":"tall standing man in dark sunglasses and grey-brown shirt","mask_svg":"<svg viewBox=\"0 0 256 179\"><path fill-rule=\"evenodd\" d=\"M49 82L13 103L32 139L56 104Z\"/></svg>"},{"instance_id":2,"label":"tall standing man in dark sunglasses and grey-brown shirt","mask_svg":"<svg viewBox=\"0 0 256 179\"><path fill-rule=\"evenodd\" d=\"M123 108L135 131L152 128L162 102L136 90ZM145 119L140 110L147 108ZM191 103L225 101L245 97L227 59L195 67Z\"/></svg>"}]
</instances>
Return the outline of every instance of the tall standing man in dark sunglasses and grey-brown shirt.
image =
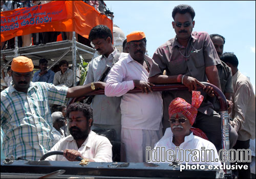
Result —
<instances>
[{"instance_id":1,"label":"tall standing man in dark sunglasses and grey-brown shirt","mask_svg":"<svg viewBox=\"0 0 256 179\"><path fill-rule=\"evenodd\" d=\"M191 100L191 91L197 90L197 85L203 96L205 92L212 92L211 87L205 87L200 81L207 80L221 89L217 64L220 59L214 44L205 32L192 32L195 26L195 11L188 5L176 6L173 10L172 23L176 37L160 46L153 55L153 65L148 81L152 83L182 83L188 91L164 92L163 97L163 127L166 129L168 122L168 105L170 101L181 97L186 101ZM163 71L166 75L162 75ZM204 100L198 109L199 113L194 125L202 129L208 139L219 150L221 146L221 118L212 106ZM231 129L231 126L230 126ZM237 132L232 128L229 132L230 146L236 143Z\"/></svg>"}]
</instances>

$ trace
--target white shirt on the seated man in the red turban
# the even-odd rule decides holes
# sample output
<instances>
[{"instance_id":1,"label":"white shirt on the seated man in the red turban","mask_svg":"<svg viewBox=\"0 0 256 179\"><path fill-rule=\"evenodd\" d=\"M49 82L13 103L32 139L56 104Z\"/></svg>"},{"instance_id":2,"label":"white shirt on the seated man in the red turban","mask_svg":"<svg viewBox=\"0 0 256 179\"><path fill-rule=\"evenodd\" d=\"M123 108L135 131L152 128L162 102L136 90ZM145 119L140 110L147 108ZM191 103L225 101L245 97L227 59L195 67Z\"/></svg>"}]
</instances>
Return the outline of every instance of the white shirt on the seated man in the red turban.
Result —
<instances>
[{"instance_id":1,"label":"white shirt on the seated man in the red turban","mask_svg":"<svg viewBox=\"0 0 256 179\"><path fill-rule=\"evenodd\" d=\"M156 156L157 156L157 160L159 160L160 157L160 162L163 163L169 163L168 161L163 161L163 151L168 150L168 149L172 149L174 152L176 152L176 160L179 160L177 162L180 162L182 164L187 163L187 164L206 164L206 165L221 165L221 162L206 162L206 160L209 159L209 152L206 152L205 150L211 150L212 152L212 160L214 159L214 161L216 161L216 159L219 159L219 155L218 152L214 146L214 144L212 144L210 141L207 141L203 138L200 138L198 136L194 136L193 132L190 133L189 136L186 136L184 139L184 142L180 144L179 146L179 150L183 149L185 150L193 150L193 149L197 149L199 152L195 152L195 153L191 153L191 152L184 152L183 157L178 155L178 151L176 149L176 145L172 142L173 141L173 132L170 129L170 127L166 128L164 136L155 144L155 148L154 150L157 150L157 147L162 147L162 152L157 152ZM163 150L163 147L165 147L165 149ZM202 147L203 150L202 150ZM159 151L159 150L158 150ZM193 150L195 151L195 150ZM203 155L201 155L201 153L206 153L206 158ZM199 161L192 161L195 159L195 156L191 158L192 155L196 154L196 157ZM184 158L185 156L185 158ZM162 159L161 159L162 158ZM183 161L181 161L181 159ZM188 162L185 161L185 159L188 159ZM205 161L205 162L204 162ZM155 161L152 161L155 162ZM158 162L158 161L157 161Z\"/></svg>"}]
</instances>

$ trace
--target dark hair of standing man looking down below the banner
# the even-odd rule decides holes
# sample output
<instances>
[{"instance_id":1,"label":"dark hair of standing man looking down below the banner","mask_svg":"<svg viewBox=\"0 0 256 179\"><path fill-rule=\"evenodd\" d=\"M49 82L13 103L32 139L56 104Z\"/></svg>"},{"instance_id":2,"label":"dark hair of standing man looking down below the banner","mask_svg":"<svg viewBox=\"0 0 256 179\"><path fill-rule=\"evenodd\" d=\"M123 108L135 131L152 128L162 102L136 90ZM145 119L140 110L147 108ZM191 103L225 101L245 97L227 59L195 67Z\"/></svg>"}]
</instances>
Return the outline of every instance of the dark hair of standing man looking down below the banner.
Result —
<instances>
[{"instance_id":1,"label":"dark hair of standing man looking down below the banner","mask_svg":"<svg viewBox=\"0 0 256 179\"><path fill-rule=\"evenodd\" d=\"M104 25L95 26L94 28L92 28L89 34L90 41L93 41L94 39L97 39L97 38L106 39L108 37L111 38L111 43L112 43L112 40L113 40L112 32L108 27Z\"/></svg>"}]
</instances>

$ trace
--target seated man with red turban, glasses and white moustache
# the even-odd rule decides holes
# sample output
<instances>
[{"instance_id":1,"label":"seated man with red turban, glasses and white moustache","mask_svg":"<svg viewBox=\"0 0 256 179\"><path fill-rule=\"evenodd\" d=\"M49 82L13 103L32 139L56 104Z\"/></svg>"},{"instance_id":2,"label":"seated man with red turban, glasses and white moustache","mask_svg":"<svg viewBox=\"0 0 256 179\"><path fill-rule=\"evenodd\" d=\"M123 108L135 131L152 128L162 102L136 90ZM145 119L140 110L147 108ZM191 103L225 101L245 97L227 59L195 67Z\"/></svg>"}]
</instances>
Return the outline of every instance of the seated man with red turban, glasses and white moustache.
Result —
<instances>
[{"instance_id":1,"label":"seated man with red turban, glasses and white moustache","mask_svg":"<svg viewBox=\"0 0 256 179\"><path fill-rule=\"evenodd\" d=\"M157 156L155 161L153 158L152 162L187 162L188 164L196 162L197 164L221 165L220 161L216 161L219 158L214 144L208 141L202 130L191 127L195 122L197 109L203 98L200 92L192 91L191 105L182 98L176 98L169 104L170 128L166 128L164 136L155 144L154 149L157 151L157 147L165 147L165 150L172 149L174 153L176 151L176 156L174 155L173 159L176 161L164 160L165 153L158 150L157 154L152 153L152 156ZM177 153L180 152L177 152L176 147L179 147L179 150L190 150L190 152L183 152L184 155L179 156ZM210 152L206 152L206 149ZM168 156L166 158L168 159Z\"/></svg>"}]
</instances>

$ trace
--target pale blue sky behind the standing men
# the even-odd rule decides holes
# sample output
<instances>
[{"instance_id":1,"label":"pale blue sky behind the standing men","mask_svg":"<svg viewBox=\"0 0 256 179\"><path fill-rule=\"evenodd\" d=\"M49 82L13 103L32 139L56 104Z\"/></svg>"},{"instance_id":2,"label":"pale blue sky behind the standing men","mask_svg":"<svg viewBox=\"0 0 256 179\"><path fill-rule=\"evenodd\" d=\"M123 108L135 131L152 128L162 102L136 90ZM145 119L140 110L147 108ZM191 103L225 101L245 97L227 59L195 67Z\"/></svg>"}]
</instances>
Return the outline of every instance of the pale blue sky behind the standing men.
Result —
<instances>
[{"instance_id":1,"label":"pale blue sky behind the standing men","mask_svg":"<svg viewBox=\"0 0 256 179\"><path fill-rule=\"evenodd\" d=\"M124 35L143 31L147 53L176 33L172 27L175 6L187 4L196 12L193 31L220 34L225 37L224 52L233 52L238 69L250 78L255 94L255 1L104 1L114 12L114 24Z\"/></svg>"}]
</instances>

